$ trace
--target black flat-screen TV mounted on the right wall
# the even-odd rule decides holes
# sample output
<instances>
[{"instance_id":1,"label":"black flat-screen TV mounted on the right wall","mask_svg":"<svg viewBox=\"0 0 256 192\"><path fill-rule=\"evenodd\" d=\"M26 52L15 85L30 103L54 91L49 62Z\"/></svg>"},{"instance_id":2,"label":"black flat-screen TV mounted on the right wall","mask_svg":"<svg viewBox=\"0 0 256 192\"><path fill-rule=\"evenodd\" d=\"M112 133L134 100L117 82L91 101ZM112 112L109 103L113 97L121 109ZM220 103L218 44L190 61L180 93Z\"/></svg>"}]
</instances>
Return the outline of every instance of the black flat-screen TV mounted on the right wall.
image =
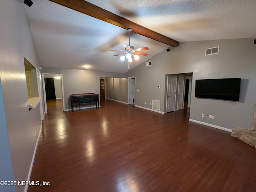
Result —
<instances>
[{"instance_id":1,"label":"black flat-screen TV mounted on the right wall","mask_svg":"<svg viewBox=\"0 0 256 192\"><path fill-rule=\"evenodd\" d=\"M239 101L241 78L198 79L197 98Z\"/></svg>"}]
</instances>

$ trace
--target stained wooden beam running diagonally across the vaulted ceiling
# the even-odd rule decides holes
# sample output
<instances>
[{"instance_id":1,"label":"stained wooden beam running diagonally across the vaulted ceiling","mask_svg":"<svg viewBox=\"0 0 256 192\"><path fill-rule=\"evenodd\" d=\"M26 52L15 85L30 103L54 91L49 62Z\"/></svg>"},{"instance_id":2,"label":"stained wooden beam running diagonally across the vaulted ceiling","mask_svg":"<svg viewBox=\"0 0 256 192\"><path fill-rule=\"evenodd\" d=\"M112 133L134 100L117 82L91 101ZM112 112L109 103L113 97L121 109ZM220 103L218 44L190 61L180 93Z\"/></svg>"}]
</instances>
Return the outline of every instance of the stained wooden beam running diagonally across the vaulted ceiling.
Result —
<instances>
[{"instance_id":1,"label":"stained wooden beam running diagonally across the vaulted ceiling","mask_svg":"<svg viewBox=\"0 0 256 192\"><path fill-rule=\"evenodd\" d=\"M179 42L175 41L174 39L166 37L160 33L156 33L155 31L152 31L146 27L143 27L134 22L131 22L125 18L122 18L116 14L113 14L112 12L104 10L84 0L49 0L49 1L60 4L72 10L76 10L88 16L92 16L104 22L108 22L110 24L116 25L118 27L122 27L124 29L131 28L132 32L134 33L138 33L140 35L143 35L150 39L154 39L161 43L170 45L172 47L178 47L179 45Z\"/></svg>"}]
</instances>

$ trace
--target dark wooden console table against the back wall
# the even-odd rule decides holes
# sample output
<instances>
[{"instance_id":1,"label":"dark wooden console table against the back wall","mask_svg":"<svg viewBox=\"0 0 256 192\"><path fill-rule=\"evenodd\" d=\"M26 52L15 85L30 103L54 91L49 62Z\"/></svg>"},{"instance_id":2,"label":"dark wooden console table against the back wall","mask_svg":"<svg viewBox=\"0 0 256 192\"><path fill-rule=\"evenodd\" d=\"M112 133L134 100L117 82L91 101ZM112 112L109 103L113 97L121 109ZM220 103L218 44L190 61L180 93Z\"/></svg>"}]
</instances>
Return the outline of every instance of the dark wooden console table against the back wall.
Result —
<instances>
[{"instance_id":1,"label":"dark wooden console table against the back wall","mask_svg":"<svg viewBox=\"0 0 256 192\"><path fill-rule=\"evenodd\" d=\"M72 112L74 112L74 105L79 105L79 111L80 111L81 104L86 104L86 103L92 103L92 109L93 109L94 102L96 103L96 108L97 108L97 103L99 107L99 94L96 94L96 93L72 94L71 95Z\"/></svg>"}]
</instances>

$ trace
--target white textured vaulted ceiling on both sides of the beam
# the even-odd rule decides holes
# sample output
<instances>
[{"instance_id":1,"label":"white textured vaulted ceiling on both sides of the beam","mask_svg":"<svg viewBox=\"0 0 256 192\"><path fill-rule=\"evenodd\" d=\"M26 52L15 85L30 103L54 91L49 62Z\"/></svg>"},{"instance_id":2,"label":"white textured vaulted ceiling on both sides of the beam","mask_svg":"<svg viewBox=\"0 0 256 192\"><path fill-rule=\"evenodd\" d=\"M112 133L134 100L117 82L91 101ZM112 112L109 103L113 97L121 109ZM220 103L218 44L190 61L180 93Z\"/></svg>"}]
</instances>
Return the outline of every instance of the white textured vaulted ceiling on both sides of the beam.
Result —
<instances>
[{"instance_id":1,"label":"white textured vaulted ceiling on both sides of the beam","mask_svg":"<svg viewBox=\"0 0 256 192\"><path fill-rule=\"evenodd\" d=\"M48 0L32 0L26 13L42 67L127 72L120 52L128 31ZM256 37L256 0L88 0L176 41ZM131 69L170 47L136 33L130 45L149 47ZM174 48L175 49L175 48Z\"/></svg>"}]
</instances>

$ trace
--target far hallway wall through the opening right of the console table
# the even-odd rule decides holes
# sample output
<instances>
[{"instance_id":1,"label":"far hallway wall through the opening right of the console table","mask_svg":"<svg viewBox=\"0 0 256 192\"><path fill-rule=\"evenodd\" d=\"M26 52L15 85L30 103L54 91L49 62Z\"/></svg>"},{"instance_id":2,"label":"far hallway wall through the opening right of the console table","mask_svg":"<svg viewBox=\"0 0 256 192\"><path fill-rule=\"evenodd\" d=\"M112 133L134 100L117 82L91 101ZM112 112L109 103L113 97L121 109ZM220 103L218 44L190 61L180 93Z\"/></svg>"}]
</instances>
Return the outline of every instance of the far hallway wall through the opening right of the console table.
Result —
<instances>
[{"instance_id":1,"label":"far hallway wall through the opening right of the console table","mask_svg":"<svg viewBox=\"0 0 256 192\"><path fill-rule=\"evenodd\" d=\"M107 98L127 103L127 78L106 78Z\"/></svg>"}]
</instances>

